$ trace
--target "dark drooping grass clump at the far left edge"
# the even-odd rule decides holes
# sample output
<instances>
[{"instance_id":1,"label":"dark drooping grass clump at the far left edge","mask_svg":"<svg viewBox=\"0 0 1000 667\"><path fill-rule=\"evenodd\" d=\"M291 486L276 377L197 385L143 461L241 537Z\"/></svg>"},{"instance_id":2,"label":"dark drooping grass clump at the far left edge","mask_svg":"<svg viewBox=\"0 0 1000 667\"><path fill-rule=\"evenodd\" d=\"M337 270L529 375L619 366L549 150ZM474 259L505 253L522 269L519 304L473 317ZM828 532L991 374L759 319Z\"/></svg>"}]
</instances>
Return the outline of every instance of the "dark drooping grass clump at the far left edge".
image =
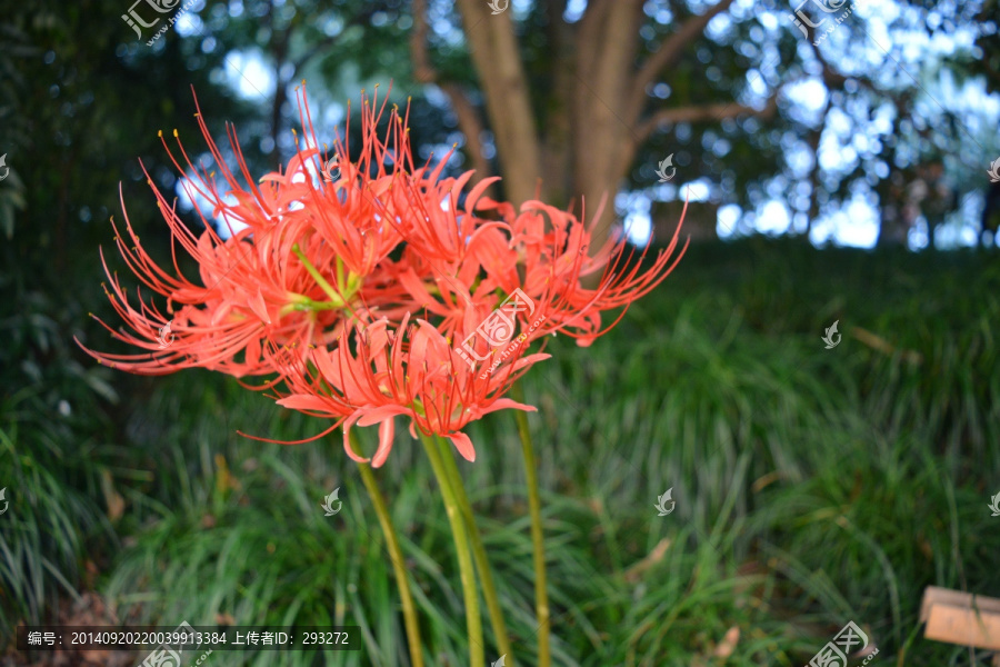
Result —
<instances>
[{"instance_id":1,"label":"dark drooping grass clump at the far left edge","mask_svg":"<svg viewBox=\"0 0 1000 667\"><path fill-rule=\"evenodd\" d=\"M101 411L117 402L111 374L70 354L79 306L56 305L4 271L0 288L2 646L19 619L40 623L60 598L74 599L87 561L116 549L104 491L113 498L113 480L134 470Z\"/></svg>"}]
</instances>

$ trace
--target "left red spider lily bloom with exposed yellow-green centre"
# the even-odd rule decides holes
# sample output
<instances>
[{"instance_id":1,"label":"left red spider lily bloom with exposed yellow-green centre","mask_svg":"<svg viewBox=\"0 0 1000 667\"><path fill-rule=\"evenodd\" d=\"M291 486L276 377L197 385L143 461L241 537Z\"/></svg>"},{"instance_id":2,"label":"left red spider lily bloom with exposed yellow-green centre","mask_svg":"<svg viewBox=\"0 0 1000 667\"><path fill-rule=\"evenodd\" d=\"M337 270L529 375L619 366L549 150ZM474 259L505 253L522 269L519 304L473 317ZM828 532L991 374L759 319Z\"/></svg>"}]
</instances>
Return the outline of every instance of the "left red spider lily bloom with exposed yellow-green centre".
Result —
<instances>
[{"instance_id":1,"label":"left red spider lily bloom with exposed yellow-green centre","mask_svg":"<svg viewBox=\"0 0 1000 667\"><path fill-rule=\"evenodd\" d=\"M214 172L196 168L180 146L193 173L186 188L196 207L199 199L210 203L212 216L229 226L230 237L221 239L201 209L198 212L204 231L198 236L191 232L147 173L171 238L198 262L202 285L181 275L176 249L172 271L157 265L140 243L126 212L128 241L116 227L119 251L146 287L166 297L167 312L147 303L141 292L130 302L104 262L112 286L109 299L131 332L101 323L116 338L147 354L113 355L83 349L100 362L144 375L163 375L192 366L236 377L266 375L272 372L262 356L267 341L298 349L323 345L339 335L346 309L404 299L406 292L392 282L389 267L379 266L400 242L396 220L404 217L404 211L393 209L387 191L393 183L399 190L409 185L408 178L390 175L384 168L390 152L407 161L410 151L403 121L394 110L386 139L377 136L384 107L383 102L377 112L374 104L364 100L361 157L357 163L341 157L342 177L332 186L314 182L314 165L312 170L308 167L318 155L314 148L299 151L283 173L269 173L259 186L254 185L236 132L229 129L239 171L249 183L243 186L226 166L199 108L199 127L228 190L221 193ZM304 91L300 113L302 110L303 126L308 119L314 145ZM166 141L163 146L183 172ZM346 146L342 150L347 155Z\"/></svg>"}]
</instances>

